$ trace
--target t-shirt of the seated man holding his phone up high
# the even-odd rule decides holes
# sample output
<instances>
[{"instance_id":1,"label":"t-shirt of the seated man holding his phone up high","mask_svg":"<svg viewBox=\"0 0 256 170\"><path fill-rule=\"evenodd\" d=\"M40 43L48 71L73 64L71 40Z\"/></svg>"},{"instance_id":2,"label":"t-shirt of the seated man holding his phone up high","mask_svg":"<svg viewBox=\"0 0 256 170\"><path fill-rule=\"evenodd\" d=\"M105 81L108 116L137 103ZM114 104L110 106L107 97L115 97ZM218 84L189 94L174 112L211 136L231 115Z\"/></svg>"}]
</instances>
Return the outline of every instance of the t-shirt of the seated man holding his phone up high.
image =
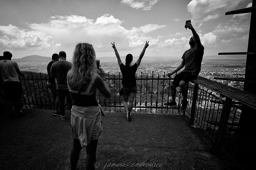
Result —
<instances>
[{"instance_id":1,"label":"t-shirt of the seated man holding his phone up high","mask_svg":"<svg viewBox=\"0 0 256 170\"><path fill-rule=\"evenodd\" d=\"M192 51L188 49L182 56L182 59L185 60L185 69L184 71L198 71L201 70L201 62L204 55L204 46L201 49L194 48Z\"/></svg>"}]
</instances>

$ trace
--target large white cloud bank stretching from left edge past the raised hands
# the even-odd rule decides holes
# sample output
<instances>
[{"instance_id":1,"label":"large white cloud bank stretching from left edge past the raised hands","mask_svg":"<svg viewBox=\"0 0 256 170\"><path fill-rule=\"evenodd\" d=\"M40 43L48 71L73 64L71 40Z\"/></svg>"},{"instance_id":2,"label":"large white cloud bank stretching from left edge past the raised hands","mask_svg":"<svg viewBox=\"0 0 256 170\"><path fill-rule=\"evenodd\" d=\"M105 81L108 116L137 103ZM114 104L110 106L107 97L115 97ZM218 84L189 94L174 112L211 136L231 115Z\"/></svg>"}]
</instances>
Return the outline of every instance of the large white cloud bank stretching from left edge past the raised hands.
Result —
<instances>
[{"instance_id":1,"label":"large white cloud bank stretching from left edge past the raised hands","mask_svg":"<svg viewBox=\"0 0 256 170\"><path fill-rule=\"evenodd\" d=\"M46 23L27 24L30 28L28 30L13 25L0 26L0 33L3 33L0 37L1 48L14 50L33 48L37 51L44 50L47 54L52 51L54 53L66 51L70 58L77 43L87 42L93 45L97 54L111 56L113 51L110 43L113 41L119 51L139 52L146 41L150 41L151 47L157 46L159 44L157 37L145 35L166 27L147 24L126 29L121 25L122 21L109 14L100 16L96 20L77 15L52 16Z\"/></svg>"}]
</instances>

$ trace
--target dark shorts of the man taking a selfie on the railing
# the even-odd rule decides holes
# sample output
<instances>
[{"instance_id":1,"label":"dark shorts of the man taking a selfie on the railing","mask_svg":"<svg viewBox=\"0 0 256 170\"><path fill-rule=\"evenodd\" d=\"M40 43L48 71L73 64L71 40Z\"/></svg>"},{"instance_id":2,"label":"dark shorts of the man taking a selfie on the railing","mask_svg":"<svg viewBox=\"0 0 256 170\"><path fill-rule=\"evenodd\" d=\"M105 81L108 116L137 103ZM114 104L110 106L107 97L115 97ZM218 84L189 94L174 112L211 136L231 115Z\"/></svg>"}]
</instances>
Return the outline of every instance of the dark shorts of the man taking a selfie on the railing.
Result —
<instances>
[{"instance_id":1,"label":"dark shorts of the man taking a selfie on the railing","mask_svg":"<svg viewBox=\"0 0 256 170\"><path fill-rule=\"evenodd\" d=\"M192 72L192 71L184 71L183 72L182 71L174 77L172 84L179 87L180 81L189 83L191 80L196 79L198 74L199 74L199 72L197 72L197 71L195 71L195 72Z\"/></svg>"}]
</instances>

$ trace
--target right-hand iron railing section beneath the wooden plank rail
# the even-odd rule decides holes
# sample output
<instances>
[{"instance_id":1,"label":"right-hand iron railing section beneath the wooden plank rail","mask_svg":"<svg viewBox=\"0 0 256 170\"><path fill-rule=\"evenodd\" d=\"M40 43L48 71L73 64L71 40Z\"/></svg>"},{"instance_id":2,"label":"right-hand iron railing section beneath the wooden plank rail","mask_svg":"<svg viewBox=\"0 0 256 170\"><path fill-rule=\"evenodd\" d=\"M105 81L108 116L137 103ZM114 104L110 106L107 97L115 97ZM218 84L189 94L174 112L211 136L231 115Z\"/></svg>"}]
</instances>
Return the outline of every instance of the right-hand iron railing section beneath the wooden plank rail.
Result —
<instances>
[{"instance_id":1,"label":"right-hand iron railing section beneath the wooden plank rail","mask_svg":"<svg viewBox=\"0 0 256 170\"><path fill-rule=\"evenodd\" d=\"M241 148L244 147L241 142L248 143L243 139L244 136L253 140L254 135L248 135L247 131L250 130L251 133L253 132L252 128L255 129L255 127L249 123L248 119L244 119L241 123L240 115L242 111L244 114L251 114L255 113L255 110L237 101L232 101L228 97L220 97L213 93L209 89L200 87L199 84L189 83L186 113L191 118L191 125L194 125L195 122L195 125L203 129L214 142L210 152L217 155L220 155L220 152L224 153L227 160L243 169L242 164L248 163L248 160L241 158ZM252 128L250 129L249 126ZM253 156L255 156L255 152ZM249 161L249 163L252 164L253 161Z\"/></svg>"}]
</instances>

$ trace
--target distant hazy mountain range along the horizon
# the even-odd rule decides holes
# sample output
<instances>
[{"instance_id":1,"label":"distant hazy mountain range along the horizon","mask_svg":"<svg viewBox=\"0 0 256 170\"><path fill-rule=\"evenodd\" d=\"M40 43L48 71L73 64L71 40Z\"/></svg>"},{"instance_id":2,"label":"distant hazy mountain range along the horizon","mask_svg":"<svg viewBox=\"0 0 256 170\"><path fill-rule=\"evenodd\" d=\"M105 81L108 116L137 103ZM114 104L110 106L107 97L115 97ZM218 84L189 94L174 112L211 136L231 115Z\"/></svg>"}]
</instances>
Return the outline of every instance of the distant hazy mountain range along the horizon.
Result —
<instances>
[{"instance_id":1,"label":"distant hazy mountain range along the horizon","mask_svg":"<svg viewBox=\"0 0 256 170\"><path fill-rule=\"evenodd\" d=\"M121 56L121 59L125 59L125 56ZM135 58L137 58L135 56ZM115 61L116 57L97 57L97 60L101 60L101 61ZM181 60L181 56L180 57L174 57L174 56L144 56L143 59L157 59L157 60L177 60L180 59ZM38 55L31 55L31 56L26 56L26 57L22 57L19 59L12 59L13 61L16 61L18 63L23 63L23 62L35 62L35 63L40 63L40 62L50 62L51 61L51 57L44 57L44 56L38 56ZM215 56L204 56L203 60L246 60L246 55L215 55ZM68 60L70 61L70 60Z\"/></svg>"}]
</instances>

